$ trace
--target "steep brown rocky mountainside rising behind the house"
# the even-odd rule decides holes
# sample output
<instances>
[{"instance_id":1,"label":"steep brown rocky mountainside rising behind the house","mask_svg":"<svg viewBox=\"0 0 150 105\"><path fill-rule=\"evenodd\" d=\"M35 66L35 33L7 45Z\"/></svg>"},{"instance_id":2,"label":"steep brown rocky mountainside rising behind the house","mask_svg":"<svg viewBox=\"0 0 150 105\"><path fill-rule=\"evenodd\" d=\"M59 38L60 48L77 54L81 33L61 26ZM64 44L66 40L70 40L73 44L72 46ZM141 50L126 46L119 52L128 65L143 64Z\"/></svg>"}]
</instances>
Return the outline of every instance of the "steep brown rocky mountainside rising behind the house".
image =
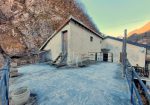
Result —
<instances>
[{"instance_id":1,"label":"steep brown rocky mountainside rising behind the house","mask_svg":"<svg viewBox=\"0 0 150 105\"><path fill-rule=\"evenodd\" d=\"M0 47L11 56L38 49L70 15L98 32L77 0L0 0Z\"/></svg>"}]
</instances>

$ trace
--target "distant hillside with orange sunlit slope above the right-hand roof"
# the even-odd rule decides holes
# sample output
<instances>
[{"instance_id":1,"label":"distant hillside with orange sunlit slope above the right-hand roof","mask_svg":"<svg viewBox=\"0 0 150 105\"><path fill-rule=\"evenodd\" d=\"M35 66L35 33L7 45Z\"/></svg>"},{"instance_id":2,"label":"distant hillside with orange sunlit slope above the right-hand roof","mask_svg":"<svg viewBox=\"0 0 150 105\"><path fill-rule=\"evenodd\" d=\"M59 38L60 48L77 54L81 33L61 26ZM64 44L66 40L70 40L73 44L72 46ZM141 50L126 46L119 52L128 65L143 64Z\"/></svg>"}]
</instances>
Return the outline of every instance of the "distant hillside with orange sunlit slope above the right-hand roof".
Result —
<instances>
[{"instance_id":1,"label":"distant hillside with orange sunlit slope above the right-hand roof","mask_svg":"<svg viewBox=\"0 0 150 105\"><path fill-rule=\"evenodd\" d=\"M142 44L150 44L150 22L143 27L131 31L128 39Z\"/></svg>"}]
</instances>

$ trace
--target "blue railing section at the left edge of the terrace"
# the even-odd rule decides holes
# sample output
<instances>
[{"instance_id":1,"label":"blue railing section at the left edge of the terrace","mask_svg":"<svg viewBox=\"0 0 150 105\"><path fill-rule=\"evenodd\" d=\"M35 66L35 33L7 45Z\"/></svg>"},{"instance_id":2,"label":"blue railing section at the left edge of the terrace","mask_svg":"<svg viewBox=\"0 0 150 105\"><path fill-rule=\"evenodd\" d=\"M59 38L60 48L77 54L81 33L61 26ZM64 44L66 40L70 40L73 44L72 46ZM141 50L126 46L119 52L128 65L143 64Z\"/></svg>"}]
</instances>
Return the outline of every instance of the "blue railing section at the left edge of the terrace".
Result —
<instances>
[{"instance_id":1,"label":"blue railing section at the left edge of the terrace","mask_svg":"<svg viewBox=\"0 0 150 105\"><path fill-rule=\"evenodd\" d=\"M9 59L6 60L6 64L0 70L0 102L2 105L9 105Z\"/></svg>"}]
</instances>

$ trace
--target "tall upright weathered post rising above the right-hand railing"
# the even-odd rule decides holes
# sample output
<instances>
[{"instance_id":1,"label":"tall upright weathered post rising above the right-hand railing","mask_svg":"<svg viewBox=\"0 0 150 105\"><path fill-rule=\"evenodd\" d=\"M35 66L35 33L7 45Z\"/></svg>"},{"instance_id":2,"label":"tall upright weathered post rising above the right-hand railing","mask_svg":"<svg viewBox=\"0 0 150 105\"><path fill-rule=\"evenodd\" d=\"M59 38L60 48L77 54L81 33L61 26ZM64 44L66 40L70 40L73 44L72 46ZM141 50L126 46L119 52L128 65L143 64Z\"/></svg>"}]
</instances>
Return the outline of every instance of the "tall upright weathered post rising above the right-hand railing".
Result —
<instances>
[{"instance_id":1,"label":"tall upright weathered post rising above the right-hand railing","mask_svg":"<svg viewBox=\"0 0 150 105\"><path fill-rule=\"evenodd\" d=\"M126 70L126 60L127 60L127 52L126 52L126 43L127 43L127 29L124 31L123 37L123 47L122 47L122 63L123 63L123 76L125 77L125 70Z\"/></svg>"}]
</instances>

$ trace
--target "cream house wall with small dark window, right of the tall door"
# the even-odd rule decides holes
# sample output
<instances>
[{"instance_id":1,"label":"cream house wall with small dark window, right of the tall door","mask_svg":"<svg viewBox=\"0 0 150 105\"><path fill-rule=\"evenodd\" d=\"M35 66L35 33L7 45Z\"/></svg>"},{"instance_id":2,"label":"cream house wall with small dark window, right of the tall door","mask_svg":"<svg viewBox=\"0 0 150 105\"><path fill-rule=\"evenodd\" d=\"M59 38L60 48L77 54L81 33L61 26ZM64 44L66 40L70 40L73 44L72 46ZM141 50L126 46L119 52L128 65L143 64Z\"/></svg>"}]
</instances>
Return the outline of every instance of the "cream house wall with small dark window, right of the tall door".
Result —
<instances>
[{"instance_id":1,"label":"cream house wall with small dark window, right of the tall door","mask_svg":"<svg viewBox=\"0 0 150 105\"><path fill-rule=\"evenodd\" d=\"M83 61L89 57L89 52L100 52L102 39L87 29L79 26L73 21L70 22L70 39L68 63ZM90 41L90 36L93 41Z\"/></svg>"}]
</instances>

